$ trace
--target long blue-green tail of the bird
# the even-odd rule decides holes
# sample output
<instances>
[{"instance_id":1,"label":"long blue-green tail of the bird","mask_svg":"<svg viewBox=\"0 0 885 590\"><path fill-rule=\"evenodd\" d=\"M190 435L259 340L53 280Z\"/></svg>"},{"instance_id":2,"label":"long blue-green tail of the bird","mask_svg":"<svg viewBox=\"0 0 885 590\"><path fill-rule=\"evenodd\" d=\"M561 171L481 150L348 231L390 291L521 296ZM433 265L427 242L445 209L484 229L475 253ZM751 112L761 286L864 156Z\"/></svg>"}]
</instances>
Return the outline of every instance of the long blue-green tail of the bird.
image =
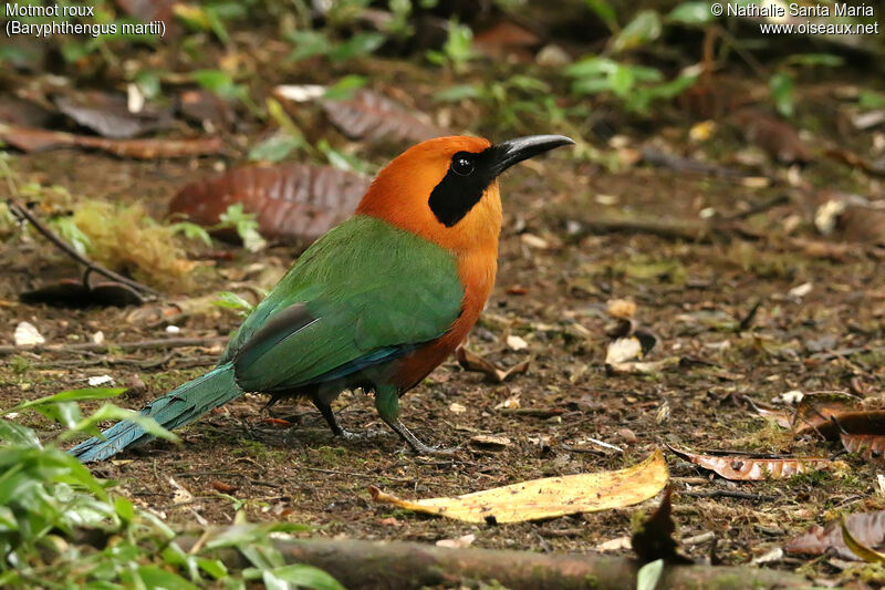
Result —
<instances>
[{"instance_id":1,"label":"long blue-green tail of the bird","mask_svg":"<svg viewBox=\"0 0 885 590\"><path fill-rule=\"evenodd\" d=\"M225 363L205 375L188 381L180 387L157 397L142 410L167 429L190 424L210 410L219 407L243 394L237 385L233 365ZM104 460L123 451L146 443L154 437L137 424L123 421L104 431L106 438L93 437L79 444L69 453L83 463Z\"/></svg>"}]
</instances>

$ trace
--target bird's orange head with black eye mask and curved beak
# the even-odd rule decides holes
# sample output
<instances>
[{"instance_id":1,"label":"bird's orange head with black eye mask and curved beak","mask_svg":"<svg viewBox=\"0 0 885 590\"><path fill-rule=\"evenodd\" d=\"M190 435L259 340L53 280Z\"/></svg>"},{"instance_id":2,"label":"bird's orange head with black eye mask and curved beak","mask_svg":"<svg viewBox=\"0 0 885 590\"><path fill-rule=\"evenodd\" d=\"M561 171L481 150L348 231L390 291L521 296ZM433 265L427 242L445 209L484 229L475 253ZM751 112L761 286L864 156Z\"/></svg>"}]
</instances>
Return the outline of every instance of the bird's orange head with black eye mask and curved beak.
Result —
<instances>
[{"instance_id":1,"label":"bird's orange head with black eye mask and curved beak","mask_svg":"<svg viewBox=\"0 0 885 590\"><path fill-rule=\"evenodd\" d=\"M562 135L532 135L499 144L467 136L429 139L385 166L356 213L457 252L497 247L501 230L498 175L523 159L573 143Z\"/></svg>"}]
</instances>

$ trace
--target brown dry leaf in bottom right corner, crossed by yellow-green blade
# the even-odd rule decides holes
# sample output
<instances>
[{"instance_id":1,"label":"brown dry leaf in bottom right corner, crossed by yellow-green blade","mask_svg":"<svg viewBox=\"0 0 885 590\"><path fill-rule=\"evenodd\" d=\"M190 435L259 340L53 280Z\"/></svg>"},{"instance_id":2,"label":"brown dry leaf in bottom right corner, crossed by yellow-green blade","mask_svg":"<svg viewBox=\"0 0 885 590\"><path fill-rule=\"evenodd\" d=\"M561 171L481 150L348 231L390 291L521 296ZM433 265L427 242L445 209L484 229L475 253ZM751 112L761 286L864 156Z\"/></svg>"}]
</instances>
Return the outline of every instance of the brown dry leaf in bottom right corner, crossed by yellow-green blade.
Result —
<instances>
[{"instance_id":1,"label":"brown dry leaf in bottom right corner, crossed by yellow-green blade","mask_svg":"<svg viewBox=\"0 0 885 590\"><path fill-rule=\"evenodd\" d=\"M863 545L885 550L885 510L848 515L845 525L852 537ZM820 556L833 550L842 559L857 560L842 536L841 520L833 520L826 526L814 526L787 544L789 553Z\"/></svg>"}]
</instances>

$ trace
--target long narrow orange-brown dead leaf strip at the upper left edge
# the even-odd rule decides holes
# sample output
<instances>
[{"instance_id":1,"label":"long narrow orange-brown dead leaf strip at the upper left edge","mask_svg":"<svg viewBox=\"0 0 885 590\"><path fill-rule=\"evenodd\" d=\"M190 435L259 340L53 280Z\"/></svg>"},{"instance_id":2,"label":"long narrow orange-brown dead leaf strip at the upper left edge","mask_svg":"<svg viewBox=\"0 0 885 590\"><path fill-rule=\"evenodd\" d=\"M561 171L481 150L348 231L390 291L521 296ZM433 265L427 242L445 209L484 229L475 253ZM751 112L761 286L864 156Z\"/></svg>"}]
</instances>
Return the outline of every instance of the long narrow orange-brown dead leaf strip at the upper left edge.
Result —
<instances>
[{"instance_id":1,"label":"long narrow orange-brown dead leaf strip at the upper left edge","mask_svg":"<svg viewBox=\"0 0 885 590\"><path fill-rule=\"evenodd\" d=\"M55 147L84 147L101 149L119 157L162 159L205 156L225 152L220 137L195 139L107 139L88 135L74 135L58 131L38 130L21 125L0 124L0 139L22 152L37 152Z\"/></svg>"}]
</instances>

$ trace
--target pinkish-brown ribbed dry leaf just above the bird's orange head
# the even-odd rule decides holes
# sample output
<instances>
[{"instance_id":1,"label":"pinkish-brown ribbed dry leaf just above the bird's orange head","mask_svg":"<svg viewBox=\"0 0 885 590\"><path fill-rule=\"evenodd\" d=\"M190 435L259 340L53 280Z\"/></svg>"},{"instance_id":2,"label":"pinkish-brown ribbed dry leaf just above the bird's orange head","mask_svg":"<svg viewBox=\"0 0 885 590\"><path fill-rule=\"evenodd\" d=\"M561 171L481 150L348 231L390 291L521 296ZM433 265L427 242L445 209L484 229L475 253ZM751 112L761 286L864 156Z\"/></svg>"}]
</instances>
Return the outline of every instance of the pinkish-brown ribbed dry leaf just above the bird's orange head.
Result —
<instances>
[{"instance_id":1,"label":"pinkish-brown ribbed dry leaf just above the bird's orange head","mask_svg":"<svg viewBox=\"0 0 885 590\"><path fill-rule=\"evenodd\" d=\"M332 124L351 139L417 143L450 134L423 113L368 90L360 90L350 99L324 100L320 105Z\"/></svg>"}]
</instances>

